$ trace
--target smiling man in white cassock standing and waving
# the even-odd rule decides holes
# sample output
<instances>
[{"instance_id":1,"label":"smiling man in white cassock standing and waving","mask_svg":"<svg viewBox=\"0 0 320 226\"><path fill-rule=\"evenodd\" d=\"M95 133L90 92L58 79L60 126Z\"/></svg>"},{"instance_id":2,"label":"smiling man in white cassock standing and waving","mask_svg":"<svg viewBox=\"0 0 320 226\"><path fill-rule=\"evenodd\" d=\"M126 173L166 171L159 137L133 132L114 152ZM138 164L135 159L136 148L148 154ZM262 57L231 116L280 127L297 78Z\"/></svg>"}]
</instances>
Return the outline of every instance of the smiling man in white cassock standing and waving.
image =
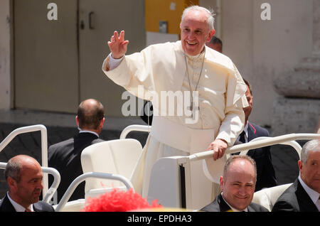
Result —
<instances>
[{"instance_id":1,"label":"smiling man in white cassock standing and waving","mask_svg":"<svg viewBox=\"0 0 320 226\"><path fill-rule=\"evenodd\" d=\"M213 22L208 9L190 6L181 17L181 41L149 45L132 55L124 55L129 43L124 41L124 31L119 35L114 31L108 42L111 53L102 65L105 75L154 106L151 132L132 176L143 197L148 195L151 168L159 158L213 150L215 161L243 129L246 85L230 58L206 47L215 33ZM144 92L139 92L141 87ZM161 92L189 95L174 104L161 104ZM188 110L183 108L186 102ZM214 198L201 163L191 165L191 188L193 208Z\"/></svg>"}]
</instances>

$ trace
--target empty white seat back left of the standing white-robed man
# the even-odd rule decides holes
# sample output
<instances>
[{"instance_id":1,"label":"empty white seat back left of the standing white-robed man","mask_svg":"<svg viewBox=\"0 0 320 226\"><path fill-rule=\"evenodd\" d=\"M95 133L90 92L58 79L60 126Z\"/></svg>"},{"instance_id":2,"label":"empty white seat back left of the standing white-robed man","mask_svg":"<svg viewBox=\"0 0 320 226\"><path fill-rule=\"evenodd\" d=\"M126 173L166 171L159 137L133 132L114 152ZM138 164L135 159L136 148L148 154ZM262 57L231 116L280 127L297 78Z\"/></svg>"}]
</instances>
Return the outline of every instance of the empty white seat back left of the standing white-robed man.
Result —
<instances>
[{"instance_id":1,"label":"empty white seat back left of the standing white-robed man","mask_svg":"<svg viewBox=\"0 0 320 226\"><path fill-rule=\"evenodd\" d=\"M129 179L141 154L142 145L136 139L117 139L92 144L82 151L82 171L83 173L116 173ZM119 181L99 178L87 179L85 182L85 197L105 193L110 187L123 189L124 185ZM99 191L97 188L105 189ZM91 195L90 190L92 190Z\"/></svg>"}]
</instances>

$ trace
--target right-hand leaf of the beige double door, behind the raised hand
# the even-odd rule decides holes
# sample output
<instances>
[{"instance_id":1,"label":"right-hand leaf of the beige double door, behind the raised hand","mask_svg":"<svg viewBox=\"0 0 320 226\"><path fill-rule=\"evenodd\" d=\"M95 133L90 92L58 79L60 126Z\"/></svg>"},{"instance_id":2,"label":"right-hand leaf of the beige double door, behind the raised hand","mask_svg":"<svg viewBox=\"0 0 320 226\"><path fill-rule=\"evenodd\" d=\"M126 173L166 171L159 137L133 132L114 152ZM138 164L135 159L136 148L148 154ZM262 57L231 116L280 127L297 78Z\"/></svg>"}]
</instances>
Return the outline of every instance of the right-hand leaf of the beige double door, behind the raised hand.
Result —
<instances>
[{"instance_id":1,"label":"right-hand leaf of the beige double door, behind the raised hand","mask_svg":"<svg viewBox=\"0 0 320 226\"><path fill-rule=\"evenodd\" d=\"M79 68L80 99L99 99L105 107L107 117L122 117L123 87L115 84L101 70L102 62L110 53L107 41L114 31L125 31L124 38L129 40L127 54L135 53L146 46L144 26L144 0L80 0L80 21L85 21L85 28L79 31ZM119 16L122 6L122 20ZM93 29L88 28L87 18L93 14ZM141 112L138 109L136 114Z\"/></svg>"}]
</instances>

